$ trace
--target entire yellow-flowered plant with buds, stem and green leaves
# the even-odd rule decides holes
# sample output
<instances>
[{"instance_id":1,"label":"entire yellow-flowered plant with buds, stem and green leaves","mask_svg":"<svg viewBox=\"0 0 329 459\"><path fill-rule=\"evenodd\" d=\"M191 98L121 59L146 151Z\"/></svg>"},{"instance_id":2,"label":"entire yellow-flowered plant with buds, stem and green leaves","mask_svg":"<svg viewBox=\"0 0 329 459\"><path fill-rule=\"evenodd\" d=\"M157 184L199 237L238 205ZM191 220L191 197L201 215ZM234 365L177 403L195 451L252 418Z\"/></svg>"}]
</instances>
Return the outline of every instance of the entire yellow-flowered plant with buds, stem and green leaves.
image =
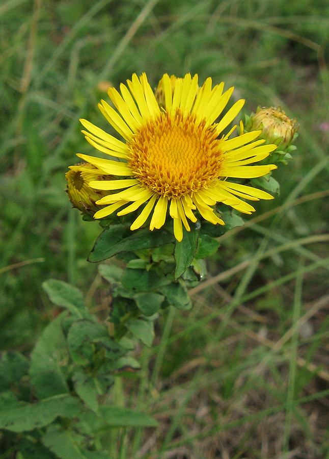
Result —
<instances>
[{"instance_id":1,"label":"entire yellow-flowered plant with buds, stem and green leaves","mask_svg":"<svg viewBox=\"0 0 329 459\"><path fill-rule=\"evenodd\" d=\"M2 360L11 377L1 383L8 406L0 427L18 442L20 459L31 451L42 459L122 458L127 427L158 425L116 403L118 381L139 377L136 342L151 347L161 313L191 308L188 289L206 276L218 237L273 198L279 184L270 174L294 149L295 123L278 109L232 126L244 104L230 105L232 93L211 78L199 86L189 73L165 74L152 90L145 73L133 74L120 92L108 89L113 106L99 104L109 132L81 119L100 153L77 155L84 162L66 173L67 193L85 220L103 227L89 261L111 259L99 265L111 304L100 316L77 288L43 284L64 311L29 363L19 353ZM15 437L20 432L29 435Z\"/></svg>"}]
</instances>

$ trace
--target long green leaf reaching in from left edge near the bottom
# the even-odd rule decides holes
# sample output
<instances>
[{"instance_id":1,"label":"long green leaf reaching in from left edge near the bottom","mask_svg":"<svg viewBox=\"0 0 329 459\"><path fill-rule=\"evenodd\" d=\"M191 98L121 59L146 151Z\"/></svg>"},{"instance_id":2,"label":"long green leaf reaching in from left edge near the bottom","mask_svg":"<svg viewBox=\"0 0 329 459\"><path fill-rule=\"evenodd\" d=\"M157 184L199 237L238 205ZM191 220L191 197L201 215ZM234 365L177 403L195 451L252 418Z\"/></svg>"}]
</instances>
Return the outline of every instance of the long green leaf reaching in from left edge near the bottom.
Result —
<instances>
[{"instance_id":1,"label":"long green leaf reaching in from left edge near the bottom","mask_svg":"<svg viewBox=\"0 0 329 459\"><path fill-rule=\"evenodd\" d=\"M58 416L76 417L82 405L77 398L64 394L35 403L7 403L0 409L0 428L24 432L44 427Z\"/></svg>"}]
</instances>

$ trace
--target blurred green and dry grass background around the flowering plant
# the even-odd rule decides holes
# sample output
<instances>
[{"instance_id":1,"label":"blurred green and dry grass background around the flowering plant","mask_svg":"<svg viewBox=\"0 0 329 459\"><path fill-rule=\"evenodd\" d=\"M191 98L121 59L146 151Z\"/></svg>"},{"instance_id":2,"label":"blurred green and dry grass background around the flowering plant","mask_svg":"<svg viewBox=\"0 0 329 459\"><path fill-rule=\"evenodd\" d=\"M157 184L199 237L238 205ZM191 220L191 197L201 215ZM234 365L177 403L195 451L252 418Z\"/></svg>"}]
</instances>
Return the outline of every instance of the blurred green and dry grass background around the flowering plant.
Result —
<instances>
[{"instance_id":1,"label":"blurred green and dry grass background around the flowering plant","mask_svg":"<svg viewBox=\"0 0 329 459\"><path fill-rule=\"evenodd\" d=\"M64 193L75 153L92 151L78 119L106 127L107 84L210 75L235 86L245 113L281 106L300 125L293 161L275 171L280 197L222 238L194 309L160 320L141 378L116 388L160 422L128 432L121 458L329 457L328 56L326 0L1 3L2 350L29 353L56 314L50 277L108 303L86 261L100 228Z\"/></svg>"}]
</instances>

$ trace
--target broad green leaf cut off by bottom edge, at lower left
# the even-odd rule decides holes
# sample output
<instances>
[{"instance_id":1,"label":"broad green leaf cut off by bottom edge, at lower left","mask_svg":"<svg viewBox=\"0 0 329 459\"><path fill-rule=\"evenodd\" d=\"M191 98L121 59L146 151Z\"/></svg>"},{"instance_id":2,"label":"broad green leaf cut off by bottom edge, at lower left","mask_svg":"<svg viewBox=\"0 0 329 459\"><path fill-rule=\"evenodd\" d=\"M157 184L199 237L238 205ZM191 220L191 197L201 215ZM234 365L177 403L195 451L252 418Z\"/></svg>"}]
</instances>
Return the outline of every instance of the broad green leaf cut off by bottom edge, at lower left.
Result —
<instances>
[{"instance_id":1,"label":"broad green leaf cut off by bottom edge, at lower left","mask_svg":"<svg viewBox=\"0 0 329 459\"><path fill-rule=\"evenodd\" d=\"M74 431L64 430L60 425L50 425L42 437L42 443L60 459L88 459L79 444L83 437Z\"/></svg>"}]
</instances>

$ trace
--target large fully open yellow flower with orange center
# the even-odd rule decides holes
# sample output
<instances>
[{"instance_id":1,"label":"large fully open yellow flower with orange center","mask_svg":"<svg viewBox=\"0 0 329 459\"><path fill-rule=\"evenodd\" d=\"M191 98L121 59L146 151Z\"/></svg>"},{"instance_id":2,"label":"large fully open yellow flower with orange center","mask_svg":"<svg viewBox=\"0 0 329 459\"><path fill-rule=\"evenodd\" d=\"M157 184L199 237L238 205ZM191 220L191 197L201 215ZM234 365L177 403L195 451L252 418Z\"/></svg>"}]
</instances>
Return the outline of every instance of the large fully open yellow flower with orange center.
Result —
<instances>
[{"instance_id":1,"label":"large fully open yellow flower with orange center","mask_svg":"<svg viewBox=\"0 0 329 459\"><path fill-rule=\"evenodd\" d=\"M104 174L118 176L117 180L89 183L97 190L120 190L96 201L106 207L94 217L106 217L119 208L123 209L117 215L126 215L145 205L130 229L140 228L152 213L150 230L153 231L165 223L169 207L175 238L181 241L182 225L190 231L187 219L197 221L195 210L209 222L223 225L213 208L216 202L251 214L255 209L240 197L272 199L262 190L226 180L227 177L260 177L277 167L251 165L276 148L275 145L260 146L264 140L255 141L260 131L229 139L234 126L227 135L218 137L244 104L244 100L238 100L218 123L214 122L225 109L233 88L223 93L224 83L211 88L211 78L207 78L199 89L198 75L191 78L189 73L183 79L170 79L165 74L159 85L165 96L162 109L145 73L140 78L133 74L131 81L127 80L128 87L121 84L121 94L114 88L108 89L117 110L104 100L99 109L124 141L85 119L80 120L87 130L82 132L88 142L119 159L77 155Z\"/></svg>"}]
</instances>

